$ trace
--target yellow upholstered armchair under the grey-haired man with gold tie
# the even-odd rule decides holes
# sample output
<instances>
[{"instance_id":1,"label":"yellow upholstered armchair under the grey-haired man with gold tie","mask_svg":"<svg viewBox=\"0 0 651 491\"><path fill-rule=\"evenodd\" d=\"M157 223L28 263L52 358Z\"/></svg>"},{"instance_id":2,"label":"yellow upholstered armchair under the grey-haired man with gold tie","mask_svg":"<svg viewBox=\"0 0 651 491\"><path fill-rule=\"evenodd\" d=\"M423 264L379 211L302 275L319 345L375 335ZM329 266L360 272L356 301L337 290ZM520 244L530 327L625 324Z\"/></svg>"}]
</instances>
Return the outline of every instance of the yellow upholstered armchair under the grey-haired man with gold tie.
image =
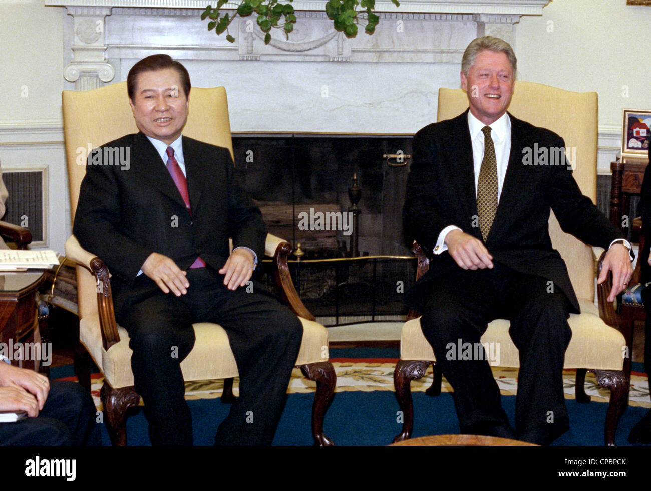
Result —
<instances>
[{"instance_id":1,"label":"yellow upholstered armchair under the grey-haired man with gold tie","mask_svg":"<svg viewBox=\"0 0 651 491\"><path fill-rule=\"evenodd\" d=\"M461 89L440 89L438 120L459 115L468 107L466 94ZM515 117L534 126L549 128L565 139L566 147L577 148L574 154L574 178L583 194L596 199L597 163L597 94L596 92L568 92L538 83L516 82L509 107ZM569 156L569 154L568 154ZM612 303L606 301L611 288L611 277L598 287L599 306L594 304L596 254L589 245L561 231L553 213L549 218L549 234L553 246L565 260L572 286L581 305L581 314L570 315L572 341L565 353L564 368L576 369L576 399L589 402L584 384L589 370L596 374L598 383L611 390L605 421L604 438L607 445L615 444L615 430L628 400L629 380L623 371L626 341L618 330L618 317ZM418 244L417 277L428 269L428 259ZM598 260L600 268L602 257ZM413 317L418 314L414 313ZM500 367L519 367L518 349L508 335L509 322L493 320L481 338L482 343L499 343ZM402 328L400 361L394 373L396 395L404 414L402 432L395 442L411 437L413 405L409 383L421 378L429 364L434 365L434 382L427 393L441 391L441 372L436 367L432 346L422 334L419 318L411 318Z\"/></svg>"}]
</instances>

